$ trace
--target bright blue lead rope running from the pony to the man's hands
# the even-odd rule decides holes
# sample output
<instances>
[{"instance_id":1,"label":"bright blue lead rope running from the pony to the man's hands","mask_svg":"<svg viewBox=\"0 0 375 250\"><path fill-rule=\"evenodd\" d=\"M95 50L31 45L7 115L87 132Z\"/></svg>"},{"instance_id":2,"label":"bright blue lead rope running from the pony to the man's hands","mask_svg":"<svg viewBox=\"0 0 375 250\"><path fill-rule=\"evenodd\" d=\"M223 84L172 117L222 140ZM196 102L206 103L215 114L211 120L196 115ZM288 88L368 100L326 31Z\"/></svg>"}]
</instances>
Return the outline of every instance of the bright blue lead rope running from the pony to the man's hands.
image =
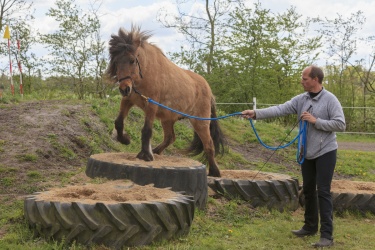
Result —
<instances>
[{"instance_id":1,"label":"bright blue lead rope running from the pony to the man's hands","mask_svg":"<svg viewBox=\"0 0 375 250\"><path fill-rule=\"evenodd\" d=\"M215 120L220 120L220 119L224 119L224 118L227 118L227 117L231 117L231 116L236 116L236 115L242 115L241 112L236 112L236 113L232 113L232 114L228 114L228 115L224 115L224 116L219 116L219 117L213 117L213 118L204 118L204 117L198 117L198 116L193 116L193 115L188 115L188 114L185 114L185 113L182 113L180 111L177 111L177 110L174 110L168 106L165 106L161 103L158 103L154 100L152 100L151 98L146 98L148 102L152 103L152 104L155 104L157 106L160 106L162 108L165 108L169 111L172 111L174 113L177 113L179 115L182 115L182 116L185 116L187 118L191 118L191 119L197 119L197 120L212 120L212 121L215 121ZM298 135L293 139L291 140L290 142L284 144L284 145L280 145L278 147L271 147L271 146L268 146L266 145L259 137L256 129L255 129L255 126L254 126L254 123L253 123L253 120L251 118L248 119L250 121L250 125L254 131L254 134L256 136L256 138L258 139L258 141L260 142L260 144L267 148L267 149L271 149L271 150L278 150L278 149L282 149L282 148L286 148L286 147L289 147L291 144L293 144L297 139L298 140L298 149L297 149L297 154L296 154L296 158L297 158L297 162L299 164L302 164L305 160L305 155L306 155L306 131L307 131L307 121L304 121L302 122L302 120L299 121L299 133Z\"/></svg>"}]
</instances>

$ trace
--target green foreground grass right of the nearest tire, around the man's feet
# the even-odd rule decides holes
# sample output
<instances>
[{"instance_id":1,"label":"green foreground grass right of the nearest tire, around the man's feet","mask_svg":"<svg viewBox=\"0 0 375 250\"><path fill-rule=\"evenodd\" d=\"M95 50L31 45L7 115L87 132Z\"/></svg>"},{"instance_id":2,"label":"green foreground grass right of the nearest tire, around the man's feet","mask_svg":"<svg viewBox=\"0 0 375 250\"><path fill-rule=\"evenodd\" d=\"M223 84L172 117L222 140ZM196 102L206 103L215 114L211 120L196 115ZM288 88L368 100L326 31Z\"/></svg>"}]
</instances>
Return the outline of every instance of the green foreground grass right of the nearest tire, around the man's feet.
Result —
<instances>
[{"instance_id":1,"label":"green foreground grass right of the nearest tire, around the man's feet","mask_svg":"<svg viewBox=\"0 0 375 250\"><path fill-rule=\"evenodd\" d=\"M216 218L198 213L187 238L139 249L168 249L168 246L169 249L306 249L319 240L319 236L300 239L290 233L301 226L301 211L291 214L251 210L235 202L217 206L220 208ZM334 249L373 249L374 243L366 243L371 240L371 233L359 234L358 229L371 230L374 218L367 218L366 223L362 220L352 214L335 217ZM357 245L358 242L362 243L361 246Z\"/></svg>"}]
</instances>

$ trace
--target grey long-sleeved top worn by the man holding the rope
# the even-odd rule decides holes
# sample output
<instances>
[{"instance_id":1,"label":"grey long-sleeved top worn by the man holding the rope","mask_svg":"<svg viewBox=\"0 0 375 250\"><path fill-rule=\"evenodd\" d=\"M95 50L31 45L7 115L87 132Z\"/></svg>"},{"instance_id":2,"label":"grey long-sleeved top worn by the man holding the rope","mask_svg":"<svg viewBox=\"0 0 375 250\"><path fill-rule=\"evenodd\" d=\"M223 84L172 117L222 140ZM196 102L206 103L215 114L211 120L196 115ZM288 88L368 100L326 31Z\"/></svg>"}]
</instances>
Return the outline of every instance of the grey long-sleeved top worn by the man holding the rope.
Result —
<instances>
[{"instance_id":1,"label":"grey long-sleeved top worn by the man holding the rope","mask_svg":"<svg viewBox=\"0 0 375 250\"><path fill-rule=\"evenodd\" d=\"M310 108L311 106L311 108ZM306 159L315 159L338 148L336 133L345 131L345 117L339 100L331 92L323 90L314 98L309 93L293 97L290 101L274 107L257 109L256 119L266 119L307 111L317 118L307 126Z\"/></svg>"}]
</instances>

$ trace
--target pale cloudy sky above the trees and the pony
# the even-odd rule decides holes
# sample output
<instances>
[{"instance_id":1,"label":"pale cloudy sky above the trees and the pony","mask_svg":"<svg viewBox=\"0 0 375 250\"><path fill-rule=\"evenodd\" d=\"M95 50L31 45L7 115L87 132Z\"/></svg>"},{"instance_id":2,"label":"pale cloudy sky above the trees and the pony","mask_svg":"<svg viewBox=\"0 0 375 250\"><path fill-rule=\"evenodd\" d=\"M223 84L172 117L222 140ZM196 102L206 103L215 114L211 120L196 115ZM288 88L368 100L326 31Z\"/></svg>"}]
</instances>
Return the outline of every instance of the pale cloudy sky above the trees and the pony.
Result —
<instances>
[{"instance_id":1,"label":"pale cloudy sky above the trees and the pony","mask_svg":"<svg viewBox=\"0 0 375 250\"><path fill-rule=\"evenodd\" d=\"M94 0L75 0L75 3L85 10L88 4ZM204 8L202 0L190 0L193 2L191 9ZM55 7L55 1L34 0L35 20L33 27L43 34L53 32L57 23L48 17L46 13L51 7ZM98 0L97 0L98 2ZM140 25L143 30L152 31L150 41L160 47L166 54L179 51L183 45L183 37L173 29L167 29L157 22L157 13L161 8L169 13L176 13L175 0L101 0L100 20L102 24L102 39L109 41L110 35L117 33L120 27L130 29L131 24ZM253 6L256 0L248 0L248 5ZM358 10L362 10L366 16L366 24L363 34L375 35L375 22L372 17L375 10L375 0L264 0L261 1L263 8L268 8L274 13L281 13L291 6L296 7L297 13L303 17L327 17L333 19L338 14L343 17L350 16ZM107 44L107 42L106 42ZM46 53L41 47L36 47L37 53ZM361 53L368 54L368 48L361 48Z\"/></svg>"}]
</instances>

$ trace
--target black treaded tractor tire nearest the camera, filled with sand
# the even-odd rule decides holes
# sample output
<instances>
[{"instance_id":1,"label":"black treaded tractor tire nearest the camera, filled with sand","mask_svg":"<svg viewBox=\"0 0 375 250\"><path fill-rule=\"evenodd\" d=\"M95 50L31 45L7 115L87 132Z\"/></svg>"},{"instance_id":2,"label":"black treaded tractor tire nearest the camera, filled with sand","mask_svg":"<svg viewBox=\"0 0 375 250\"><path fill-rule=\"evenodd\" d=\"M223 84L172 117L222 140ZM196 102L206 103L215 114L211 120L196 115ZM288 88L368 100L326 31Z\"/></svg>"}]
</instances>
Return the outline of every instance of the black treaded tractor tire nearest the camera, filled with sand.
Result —
<instances>
[{"instance_id":1,"label":"black treaded tractor tire nearest the camera, filled with sand","mask_svg":"<svg viewBox=\"0 0 375 250\"><path fill-rule=\"evenodd\" d=\"M114 193L120 189L132 192L129 185L112 185L108 188L115 190ZM78 198L78 201L59 200L56 195L48 198L51 196L48 191L27 197L24 213L36 236L120 249L123 246L148 245L189 233L194 217L194 200L173 193L174 196L165 200L109 202L86 198Z\"/></svg>"}]
</instances>

